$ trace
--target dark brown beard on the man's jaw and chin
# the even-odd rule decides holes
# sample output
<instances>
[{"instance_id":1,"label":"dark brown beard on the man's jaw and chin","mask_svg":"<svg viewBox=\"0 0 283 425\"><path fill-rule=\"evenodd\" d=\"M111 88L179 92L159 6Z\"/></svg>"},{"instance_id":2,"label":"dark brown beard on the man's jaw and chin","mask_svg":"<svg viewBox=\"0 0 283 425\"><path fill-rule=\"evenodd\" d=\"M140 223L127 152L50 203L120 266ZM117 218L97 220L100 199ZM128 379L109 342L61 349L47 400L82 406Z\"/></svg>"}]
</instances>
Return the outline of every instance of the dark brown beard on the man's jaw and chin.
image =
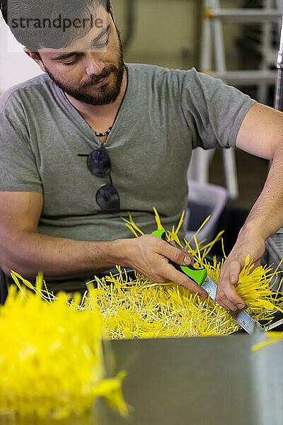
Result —
<instances>
[{"instance_id":1,"label":"dark brown beard on the man's jaw and chin","mask_svg":"<svg viewBox=\"0 0 283 425\"><path fill-rule=\"evenodd\" d=\"M113 103L117 99L120 94L122 81L124 76L124 52L122 46L122 40L120 38L120 31L117 29L117 35L119 40L119 52L118 52L118 61L116 64L110 64L109 67L105 67L100 75L93 74L88 81L86 81L79 89L75 89L70 83L59 81L50 69L47 69L45 66L45 70L49 77L54 81L57 86L62 89L65 93L69 94L69 96L75 98L77 101L81 101L83 103L88 103L88 105L93 106L102 106L107 105L108 103ZM100 81L105 79L108 76L112 76L108 83L103 86L95 89L97 94L89 94L87 93L88 87L93 84L98 84Z\"/></svg>"}]
</instances>

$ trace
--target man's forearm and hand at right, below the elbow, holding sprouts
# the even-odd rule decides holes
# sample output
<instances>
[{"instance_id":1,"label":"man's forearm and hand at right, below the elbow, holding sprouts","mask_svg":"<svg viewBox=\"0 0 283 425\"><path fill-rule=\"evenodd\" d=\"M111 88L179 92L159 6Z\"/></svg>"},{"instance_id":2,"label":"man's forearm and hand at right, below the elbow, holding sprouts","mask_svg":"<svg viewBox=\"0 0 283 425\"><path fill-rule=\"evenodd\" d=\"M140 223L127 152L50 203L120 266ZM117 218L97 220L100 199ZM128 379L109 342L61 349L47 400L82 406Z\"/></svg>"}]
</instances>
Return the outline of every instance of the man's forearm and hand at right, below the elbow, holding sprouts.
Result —
<instances>
[{"instance_id":1,"label":"man's forearm and hand at right, below the elbow, holding sprouts","mask_svg":"<svg viewBox=\"0 0 283 425\"><path fill-rule=\"evenodd\" d=\"M278 147L265 187L241 229L235 246L221 267L216 302L226 310L243 310L246 303L236 293L235 285L249 256L255 267L265 252L265 240L283 227L283 147Z\"/></svg>"}]
</instances>

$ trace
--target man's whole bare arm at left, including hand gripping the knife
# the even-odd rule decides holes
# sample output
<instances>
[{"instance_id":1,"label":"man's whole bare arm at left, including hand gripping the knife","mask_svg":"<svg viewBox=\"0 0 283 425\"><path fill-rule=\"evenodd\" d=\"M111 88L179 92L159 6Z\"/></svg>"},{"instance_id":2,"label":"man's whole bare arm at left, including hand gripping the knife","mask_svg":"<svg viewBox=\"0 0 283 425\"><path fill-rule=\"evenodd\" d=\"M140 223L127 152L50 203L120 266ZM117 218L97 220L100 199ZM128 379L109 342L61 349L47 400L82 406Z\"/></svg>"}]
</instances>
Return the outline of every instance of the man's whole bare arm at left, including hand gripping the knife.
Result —
<instances>
[{"instance_id":1,"label":"man's whole bare arm at left, including hand gripping the knife","mask_svg":"<svg viewBox=\"0 0 283 425\"><path fill-rule=\"evenodd\" d=\"M189 254L156 236L111 242L81 242L49 237L37 231L42 212L41 193L0 192L0 265L25 278L42 271L45 279L89 276L116 264L135 268L156 283L174 281L207 297L207 293L168 263L188 265Z\"/></svg>"}]
</instances>

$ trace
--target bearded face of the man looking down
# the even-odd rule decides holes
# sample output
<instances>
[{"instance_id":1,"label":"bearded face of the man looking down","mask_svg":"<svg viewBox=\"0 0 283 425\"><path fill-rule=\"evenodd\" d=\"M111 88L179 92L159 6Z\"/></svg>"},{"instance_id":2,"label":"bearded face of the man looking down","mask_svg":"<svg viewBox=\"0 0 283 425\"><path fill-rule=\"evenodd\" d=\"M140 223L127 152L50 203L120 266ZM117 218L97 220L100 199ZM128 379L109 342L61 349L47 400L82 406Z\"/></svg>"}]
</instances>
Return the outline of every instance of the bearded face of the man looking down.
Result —
<instances>
[{"instance_id":1,"label":"bearded face of the man looking down","mask_svg":"<svg viewBox=\"0 0 283 425\"><path fill-rule=\"evenodd\" d=\"M103 27L92 28L66 49L40 50L45 72L60 89L78 101L97 106L116 100L125 70L120 34L110 15ZM93 47L88 50L87 46Z\"/></svg>"}]
</instances>

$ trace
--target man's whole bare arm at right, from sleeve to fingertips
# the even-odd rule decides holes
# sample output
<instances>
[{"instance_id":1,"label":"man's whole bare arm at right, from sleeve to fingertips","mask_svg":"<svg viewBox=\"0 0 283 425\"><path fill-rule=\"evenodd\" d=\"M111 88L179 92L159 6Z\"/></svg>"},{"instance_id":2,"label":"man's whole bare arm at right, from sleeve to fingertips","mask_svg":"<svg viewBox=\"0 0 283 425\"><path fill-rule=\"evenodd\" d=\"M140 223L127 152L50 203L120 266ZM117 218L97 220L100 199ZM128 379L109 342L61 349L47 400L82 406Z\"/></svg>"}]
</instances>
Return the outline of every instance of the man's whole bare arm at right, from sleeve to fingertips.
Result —
<instances>
[{"instance_id":1,"label":"man's whole bare arm at right, from sleeve to fingertips","mask_svg":"<svg viewBox=\"0 0 283 425\"><path fill-rule=\"evenodd\" d=\"M243 120L236 146L272 160L272 166L262 193L221 268L216 300L233 311L246 307L234 288L246 256L259 265L265 239L283 227L283 113L255 103Z\"/></svg>"}]
</instances>

